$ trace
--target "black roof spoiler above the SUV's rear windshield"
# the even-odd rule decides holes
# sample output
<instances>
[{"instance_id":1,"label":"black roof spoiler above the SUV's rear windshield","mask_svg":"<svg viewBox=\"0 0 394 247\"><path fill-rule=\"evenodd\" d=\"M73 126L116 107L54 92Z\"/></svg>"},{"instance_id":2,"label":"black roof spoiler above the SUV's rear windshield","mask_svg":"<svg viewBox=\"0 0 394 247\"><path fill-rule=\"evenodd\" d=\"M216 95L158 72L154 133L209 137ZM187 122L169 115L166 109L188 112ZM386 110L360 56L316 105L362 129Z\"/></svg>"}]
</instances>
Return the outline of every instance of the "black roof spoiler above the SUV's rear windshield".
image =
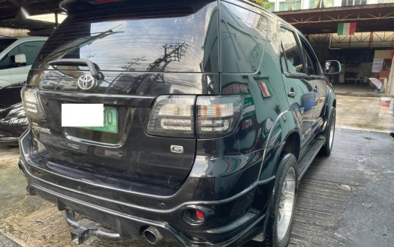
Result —
<instances>
[{"instance_id":1,"label":"black roof spoiler above the SUV's rear windshield","mask_svg":"<svg viewBox=\"0 0 394 247\"><path fill-rule=\"evenodd\" d=\"M215 2L216 0L63 0L60 3L60 9L65 11L68 15L78 14L82 11L105 9L112 6L119 7L135 7L135 8L157 8L159 6L189 6L193 8L194 12L203 8L207 3Z\"/></svg>"}]
</instances>

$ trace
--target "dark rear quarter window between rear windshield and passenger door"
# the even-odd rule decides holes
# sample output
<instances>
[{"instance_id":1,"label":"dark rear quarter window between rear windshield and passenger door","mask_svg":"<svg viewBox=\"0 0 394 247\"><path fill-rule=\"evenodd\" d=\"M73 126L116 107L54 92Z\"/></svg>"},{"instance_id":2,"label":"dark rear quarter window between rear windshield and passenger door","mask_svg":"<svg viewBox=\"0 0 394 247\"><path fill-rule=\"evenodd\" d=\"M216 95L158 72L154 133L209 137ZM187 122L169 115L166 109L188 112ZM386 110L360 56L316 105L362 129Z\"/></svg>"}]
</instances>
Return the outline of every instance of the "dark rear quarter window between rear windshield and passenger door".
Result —
<instances>
[{"instance_id":1,"label":"dark rear quarter window between rear windshield and passenger door","mask_svg":"<svg viewBox=\"0 0 394 247\"><path fill-rule=\"evenodd\" d=\"M255 73L262 62L268 21L255 12L221 3L223 73Z\"/></svg>"}]
</instances>

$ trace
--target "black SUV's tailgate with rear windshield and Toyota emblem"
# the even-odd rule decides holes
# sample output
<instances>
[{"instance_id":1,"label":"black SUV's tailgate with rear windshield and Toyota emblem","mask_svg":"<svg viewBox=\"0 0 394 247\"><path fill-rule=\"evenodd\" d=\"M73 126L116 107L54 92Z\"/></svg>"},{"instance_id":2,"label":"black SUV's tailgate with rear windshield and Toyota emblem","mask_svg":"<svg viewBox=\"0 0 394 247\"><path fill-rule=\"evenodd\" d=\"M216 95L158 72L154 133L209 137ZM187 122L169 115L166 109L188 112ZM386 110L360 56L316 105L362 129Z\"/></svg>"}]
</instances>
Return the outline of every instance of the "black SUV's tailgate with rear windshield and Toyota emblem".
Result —
<instances>
[{"instance_id":1,"label":"black SUV's tailgate with rear windshield and Toyota emblem","mask_svg":"<svg viewBox=\"0 0 394 247\"><path fill-rule=\"evenodd\" d=\"M196 138L149 135L146 126L160 95L219 93L217 2L120 4L67 17L42 48L28 80L46 114L32 120L37 150L46 161L107 178L178 187L194 163ZM92 75L80 60L94 64L96 84L80 83ZM67 103L104 104L116 127L62 127Z\"/></svg>"}]
</instances>

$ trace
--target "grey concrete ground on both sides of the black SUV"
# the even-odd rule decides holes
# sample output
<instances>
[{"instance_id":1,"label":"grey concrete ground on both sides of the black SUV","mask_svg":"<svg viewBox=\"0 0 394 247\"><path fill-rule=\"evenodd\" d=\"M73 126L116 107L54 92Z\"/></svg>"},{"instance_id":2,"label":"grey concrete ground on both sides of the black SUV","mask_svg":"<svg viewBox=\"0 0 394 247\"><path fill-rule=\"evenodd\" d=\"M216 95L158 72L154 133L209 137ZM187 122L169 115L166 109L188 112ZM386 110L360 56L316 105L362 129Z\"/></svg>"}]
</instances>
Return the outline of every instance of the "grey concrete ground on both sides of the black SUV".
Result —
<instances>
[{"instance_id":1,"label":"grey concrete ground on both sides of the black SUV","mask_svg":"<svg viewBox=\"0 0 394 247\"><path fill-rule=\"evenodd\" d=\"M300 183L290 246L394 246L390 109L379 107L379 98L338 95L334 149L316 158ZM73 246L62 212L26 195L18 155L16 148L0 147L0 247ZM86 246L148 244L90 239Z\"/></svg>"}]
</instances>

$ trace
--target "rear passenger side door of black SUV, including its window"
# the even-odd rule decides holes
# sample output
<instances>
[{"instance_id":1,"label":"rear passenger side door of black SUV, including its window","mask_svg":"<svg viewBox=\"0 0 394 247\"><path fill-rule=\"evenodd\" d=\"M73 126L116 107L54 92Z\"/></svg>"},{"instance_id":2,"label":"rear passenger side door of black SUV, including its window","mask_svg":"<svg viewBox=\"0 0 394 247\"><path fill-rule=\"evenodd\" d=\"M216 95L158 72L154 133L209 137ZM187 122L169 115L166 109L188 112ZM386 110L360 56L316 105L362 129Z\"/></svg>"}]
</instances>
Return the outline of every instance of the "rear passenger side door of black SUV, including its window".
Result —
<instances>
[{"instance_id":1,"label":"rear passenger side door of black SUV, including its window","mask_svg":"<svg viewBox=\"0 0 394 247\"><path fill-rule=\"evenodd\" d=\"M298 36L292 30L281 27L280 39L282 43L281 64L287 100L290 108L300 114L301 145L303 146L312 136L316 102L314 78L305 73L302 47L298 42Z\"/></svg>"}]
</instances>

